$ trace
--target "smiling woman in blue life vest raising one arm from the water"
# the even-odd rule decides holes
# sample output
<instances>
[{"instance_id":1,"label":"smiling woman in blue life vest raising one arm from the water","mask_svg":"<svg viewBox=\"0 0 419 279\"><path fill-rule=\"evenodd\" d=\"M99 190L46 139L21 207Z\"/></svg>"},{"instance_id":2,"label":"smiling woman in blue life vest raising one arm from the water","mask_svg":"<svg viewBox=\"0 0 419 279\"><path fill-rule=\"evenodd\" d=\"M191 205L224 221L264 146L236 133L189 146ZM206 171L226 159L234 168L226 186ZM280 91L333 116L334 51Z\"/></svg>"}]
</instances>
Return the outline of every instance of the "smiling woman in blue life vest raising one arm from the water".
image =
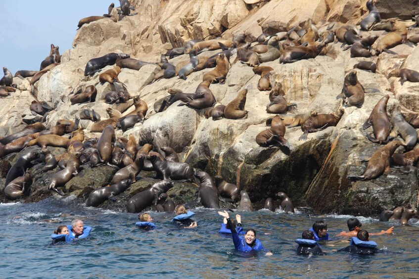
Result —
<instances>
[{"instance_id":1,"label":"smiling woman in blue life vest raising one arm from the water","mask_svg":"<svg viewBox=\"0 0 419 279\"><path fill-rule=\"evenodd\" d=\"M240 252L251 252L251 251L267 251L263 246L262 242L259 239L256 239L256 232L253 229L246 231L244 237L239 237L236 230L234 229L232 220L230 220L230 215L227 211L218 211L218 214L227 219L227 224L230 226L232 231L234 248ZM271 252L266 253L267 256L272 255Z\"/></svg>"}]
</instances>

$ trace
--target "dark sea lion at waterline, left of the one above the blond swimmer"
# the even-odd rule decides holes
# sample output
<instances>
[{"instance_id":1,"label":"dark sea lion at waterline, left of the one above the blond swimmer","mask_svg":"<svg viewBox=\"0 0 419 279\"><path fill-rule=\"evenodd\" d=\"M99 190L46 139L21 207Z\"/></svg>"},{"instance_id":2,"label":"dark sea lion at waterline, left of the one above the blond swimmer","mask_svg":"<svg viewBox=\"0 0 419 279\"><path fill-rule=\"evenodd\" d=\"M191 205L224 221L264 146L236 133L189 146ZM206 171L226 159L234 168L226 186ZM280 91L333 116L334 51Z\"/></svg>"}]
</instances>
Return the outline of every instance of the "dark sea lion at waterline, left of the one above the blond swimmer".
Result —
<instances>
[{"instance_id":1,"label":"dark sea lion at waterline, left of the one above the blond swimmer","mask_svg":"<svg viewBox=\"0 0 419 279\"><path fill-rule=\"evenodd\" d=\"M89 194L89 198L86 201L86 206L97 207L102 204L105 200L116 200L115 196L123 193L131 185L131 179L125 179L111 186L100 187Z\"/></svg>"}]
</instances>

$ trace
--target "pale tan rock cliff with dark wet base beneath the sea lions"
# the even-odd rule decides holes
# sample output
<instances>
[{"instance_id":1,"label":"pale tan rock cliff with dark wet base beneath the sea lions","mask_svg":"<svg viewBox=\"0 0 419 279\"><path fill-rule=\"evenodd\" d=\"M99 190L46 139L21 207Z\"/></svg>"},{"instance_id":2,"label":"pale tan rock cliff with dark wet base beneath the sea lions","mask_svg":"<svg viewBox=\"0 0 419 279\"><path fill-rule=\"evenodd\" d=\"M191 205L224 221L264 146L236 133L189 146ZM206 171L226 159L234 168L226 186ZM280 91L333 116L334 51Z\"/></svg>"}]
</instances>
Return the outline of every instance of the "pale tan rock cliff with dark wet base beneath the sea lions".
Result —
<instances>
[{"instance_id":1,"label":"pale tan rock cliff with dark wet base beneath the sea lions","mask_svg":"<svg viewBox=\"0 0 419 279\"><path fill-rule=\"evenodd\" d=\"M246 34L246 40L254 40L262 32L274 34L293 27L299 29L309 19L318 28L331 21L358 24L368 13L365 3L365 0L142 0L135 2L139 14L129 17L118 16L116 9L113 9L112 15L119 19L116 23L101 19L82 26L73 41L74 48L63 53L61 64L35 83L38 99L46 101L53 108L46 124L50 127L59 119L74 120L83 109L94 110L102 120L108 118L108 107L120 111L124 116L132 112L132 99L123 104L108 105L104 102L107 92L122 89L122 85L97 83L99 74L84 76L86 63L90 59L110 52L127 53L131 58L150 63L138 71L123 68L118 76L132 97L140 96L146 102L148 111L143 123L137 123L124 133L116 130L117 137L128 138L132 134L139 145L152 144L155 151L170 146L180 153L182 161L192 165L195 170L204 170L211 176L221 175L226 181L235 183L239 190L246 190L253 202L285 192L294 205L309 205L321 213L333 211L366 215L392 209L396 205L415 207L418 185L415 166L390 168L390 172L371 181L352 183L347 176L362 174L366 167L363 159L379 148L378 144L366 139L372 129L363 130L362 125L382 96L390 95L387 105L389 116L398 105L405 115L419 113L419 83L407 81L401 85L399 78L387 78L394 69L416 70L419 59L417 46L398 45L392 49L398 53L396 55L383 52L379 56L352 58L350 51L344 51L340 43L330 43L314 59L291 64L279 64L278 59L263 63L262 66L274 69L270 73L271 86L280 82L283 97L288 103L297 105L288 114L303 114L311 110L328 114L342 108L342 100L336 99L336 95L342 90L345 73L360 61L371 61L377 65L376 73L356 69L360 83L367 92L372 92L366 93L361 108L344 108L345 112L336 127L310 133L308 141L298 140L302 134L299 126L286 128L284 138L289 142L289 149L279 145L260 147L256 143L256 135L267 129L266 120L275 115L266 112L270 102L269 91L257 89L260 76L255 75L246 64L233 63L236 55L230 59L231 66L225 84L211 84L209 89L216 102L223 105L230 103L239 91L247 89L244 106L248 111L246 119L206 119L204 110L178 106L182 103L180 101L162 113L156 113L153 109L159 100L169 95L170 89L194 93L203 75L213 70L192 72L186 80L175 76L153 82L160 71L156 62L160 62L160 55L168 49L182 47L191 39L213 39L217 36L233 39L233 36L243 33ZM412 11L418 8L412 5L405 1L376 0L382 18L398 14L410 17ZM410 30L408 37L416 33L418 28ZM371 31L361 35L378 35L382 38L385 32ZM199 57L216 53L218 50L205 51ZM189 60L188 55L170 59L170 63L177 65L184 60ZM102 72L113 67L107 66ZM13 81L18 90L12 92L11 96L1 97L3 106L0 110L4 117L0 120L0 136L24 127L22 118L31 115L29 105L35 99L30 93L30 78L15 78ZM71 105L70 92L88 85L95 85L97 89L95 102ZM92 123L90 120L81 121L86 129L86 138L100 135L90 133ZM403 151L400 147L397 152ZM63 152L62 149L57 155ZM1 179L17 156L13 154L1 160ZM30 171L34 173L39 167ZM23 201L36 202L50 197L52 194L47 190L47 183L56 171L51 170L36 181L31 187L31 195ZM93 189L108 184L115 171L110 166L93 169L85 166L79 175L63 187L63 191L87 199ZM156 180L149 178L149 174L141 171L138 181L120 194L116 202L106 201L101 208L124 211L130 197L155 183ZM195 199L197 189L194 183L177 182L168 195L177 204L185 203ZM230 204L223 206L234 207Z\"/></svg>"}]
</instances>

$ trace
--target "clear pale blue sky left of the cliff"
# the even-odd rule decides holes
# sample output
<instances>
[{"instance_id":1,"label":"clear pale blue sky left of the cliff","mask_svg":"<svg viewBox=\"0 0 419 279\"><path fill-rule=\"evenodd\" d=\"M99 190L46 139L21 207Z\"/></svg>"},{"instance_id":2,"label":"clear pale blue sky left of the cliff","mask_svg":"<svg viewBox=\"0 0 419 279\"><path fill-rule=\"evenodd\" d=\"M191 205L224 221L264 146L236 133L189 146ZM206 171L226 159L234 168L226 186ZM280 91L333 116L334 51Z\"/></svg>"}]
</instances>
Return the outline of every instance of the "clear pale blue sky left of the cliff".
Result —
<instances>
[{"instance_id":1,"label":"clear pale blue sky left of the cliff","mask_svg":"<svg viewBox=\"0 0 419 279\"><path fill-rule=\"evenodd\" d=\"M63 54L79 20L107 13L112 2L119 7L118 0L0 0L0 69L39 71L51 43Z\"/></svg>"}]
</instances>

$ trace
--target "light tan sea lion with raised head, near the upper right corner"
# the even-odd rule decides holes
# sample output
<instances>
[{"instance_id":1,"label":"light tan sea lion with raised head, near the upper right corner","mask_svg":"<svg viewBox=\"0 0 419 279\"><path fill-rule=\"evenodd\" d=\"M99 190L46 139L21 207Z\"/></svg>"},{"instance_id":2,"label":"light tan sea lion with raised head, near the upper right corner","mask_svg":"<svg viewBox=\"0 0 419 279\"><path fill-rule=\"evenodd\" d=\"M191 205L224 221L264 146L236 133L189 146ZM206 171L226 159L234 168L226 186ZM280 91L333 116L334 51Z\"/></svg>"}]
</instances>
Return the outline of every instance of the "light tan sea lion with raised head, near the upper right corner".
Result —
<instances>
[{"instance_id":1,"label":"light tan sea lion with raised head, near the upper right corner","mask_svg":"<svg viewBox=\"0 0 419 279\"><path fill-rule=\"evenodd\" d=\"M390 20L392 32L382 37L376 45L376 54L380 54L382 51L389 52L388 49L395 47L407 40L407 29L401 21L392 19ZM394 52L390 52L394 54Z\"/></svg>"}]
</instances>

